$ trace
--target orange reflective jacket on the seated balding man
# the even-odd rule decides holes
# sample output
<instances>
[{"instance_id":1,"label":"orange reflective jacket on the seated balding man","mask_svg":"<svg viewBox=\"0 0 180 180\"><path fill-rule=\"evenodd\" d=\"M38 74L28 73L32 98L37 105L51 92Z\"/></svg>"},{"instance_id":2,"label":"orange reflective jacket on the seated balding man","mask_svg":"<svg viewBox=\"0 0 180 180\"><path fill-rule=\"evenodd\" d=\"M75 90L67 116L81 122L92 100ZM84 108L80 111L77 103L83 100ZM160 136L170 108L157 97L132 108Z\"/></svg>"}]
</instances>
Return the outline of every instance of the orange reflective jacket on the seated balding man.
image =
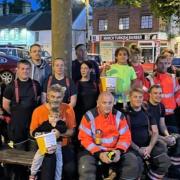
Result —
<instances>
[{"instance_id":1,"label":"orange reflective jacket on the seated balding man","mask_svg":"<svg viewBox=\"0 0 180 180\"><path fill-rule=\"evenodd\" d=\"M96 144L97 130L102 132L101 144ZM131 133L125 116L116 110L107 118L98 114L97 108L86 112L79 126L78 139L91 154L114 149L125 152L131 145Z\"/></svg>"}]
</instances>

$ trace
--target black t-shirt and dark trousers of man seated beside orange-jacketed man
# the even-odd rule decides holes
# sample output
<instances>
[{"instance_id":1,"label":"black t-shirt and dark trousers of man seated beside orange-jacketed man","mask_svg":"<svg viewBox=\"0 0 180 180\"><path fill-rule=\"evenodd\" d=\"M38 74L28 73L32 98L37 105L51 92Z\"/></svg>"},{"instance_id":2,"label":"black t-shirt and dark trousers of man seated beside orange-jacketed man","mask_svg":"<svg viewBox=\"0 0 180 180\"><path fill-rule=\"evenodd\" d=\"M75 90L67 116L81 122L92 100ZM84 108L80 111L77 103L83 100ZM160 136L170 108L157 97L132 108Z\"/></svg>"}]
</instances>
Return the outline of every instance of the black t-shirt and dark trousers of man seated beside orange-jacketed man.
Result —
<instances>
[{"instance_id":1,"label":"black t-shirt and dark trousers of man seated beside orange-jacketed man","mask_svg":"<svg viewBox=\"0 0 180 180\"><path fill-rule=\"evenodd\" d=\"M149 165L147 179L161 180L168 172L171 165L170 158L167 155L167 147L164 142L157 141L148 159L140 153L140 148L148 147L151 141L151 126L156 125L156 121L141 108L135 111L131 106L126 109L128 124L131 129L132 141L136 144L137 148L132 146L139 158L142 158L146 164Z\"/></svg>"}]
</instances>

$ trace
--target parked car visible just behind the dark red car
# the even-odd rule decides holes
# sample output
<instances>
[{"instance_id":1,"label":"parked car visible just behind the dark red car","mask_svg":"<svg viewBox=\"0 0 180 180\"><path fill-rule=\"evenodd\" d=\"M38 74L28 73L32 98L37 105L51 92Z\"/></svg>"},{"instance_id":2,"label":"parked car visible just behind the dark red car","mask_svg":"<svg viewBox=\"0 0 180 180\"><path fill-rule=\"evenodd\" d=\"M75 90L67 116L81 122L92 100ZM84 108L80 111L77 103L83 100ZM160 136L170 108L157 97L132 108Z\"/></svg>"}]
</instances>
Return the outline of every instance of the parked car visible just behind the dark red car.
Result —
<instances>
[{"instance_id":1,"label":"parked car visible just behind the dark red car","mask_svg":"<svg viewBox=\"0 0 180 180\"><path fill-rule=\"evenodd\" d=\"M27 59L29 56L28 50L16 46L0 46L0 52L19 59Z\"/></svg>"}]
</instances>

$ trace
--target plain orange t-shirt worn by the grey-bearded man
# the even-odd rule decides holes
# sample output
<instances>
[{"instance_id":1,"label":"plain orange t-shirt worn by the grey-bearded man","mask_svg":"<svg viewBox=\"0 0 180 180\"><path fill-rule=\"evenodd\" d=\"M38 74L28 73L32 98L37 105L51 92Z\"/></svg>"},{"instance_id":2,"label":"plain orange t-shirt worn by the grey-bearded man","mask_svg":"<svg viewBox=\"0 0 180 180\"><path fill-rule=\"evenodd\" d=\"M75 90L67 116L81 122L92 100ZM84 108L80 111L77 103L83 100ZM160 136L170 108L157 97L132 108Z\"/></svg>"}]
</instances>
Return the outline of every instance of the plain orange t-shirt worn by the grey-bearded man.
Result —
<instances>
[{"instance_id":1,"label":"plain orange t-shirt worn by the grey-bearded man","mask_svg":"<svg viewBox=\"0 0 180 180\"><path fill-rule=\"evenodd\" d=\"M60 118L63 119L66 123L68 129L74 129L76 127L76 120L74 110L65 103L62 103L59 107L60 110ZM31 119L30 131L33 132L36 128L38 128L44 121L48 119L49 110L46 107L46 104L43 104L37 107ZM70 142L70 138L63 137L62 145L67 145Z\"/></svg>"}]
</instances>

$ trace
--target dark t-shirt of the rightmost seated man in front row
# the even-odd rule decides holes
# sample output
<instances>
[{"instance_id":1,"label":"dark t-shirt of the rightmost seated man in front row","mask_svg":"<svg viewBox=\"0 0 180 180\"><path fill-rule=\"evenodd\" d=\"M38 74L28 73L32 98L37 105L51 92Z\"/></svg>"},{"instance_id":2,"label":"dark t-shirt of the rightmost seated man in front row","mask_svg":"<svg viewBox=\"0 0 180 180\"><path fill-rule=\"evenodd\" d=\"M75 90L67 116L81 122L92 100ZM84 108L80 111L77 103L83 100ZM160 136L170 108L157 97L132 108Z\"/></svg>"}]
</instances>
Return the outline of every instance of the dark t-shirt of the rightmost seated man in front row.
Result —
<instances>
[{"instance_id":1,"label":"dark t-shirt of the rightmost seated man in front row","mask_svg":"<svg viewBox=\"0 0 180 180\"><path fill-rule=\"evenodd\" d=\"M156 120L156 123L158 125L158 129L160 132L160 118L165 117L164 105L162 103L159 103L158 105L153 105L150 102L148 102L147 111Z\"/></svg>"}]
</instances>

